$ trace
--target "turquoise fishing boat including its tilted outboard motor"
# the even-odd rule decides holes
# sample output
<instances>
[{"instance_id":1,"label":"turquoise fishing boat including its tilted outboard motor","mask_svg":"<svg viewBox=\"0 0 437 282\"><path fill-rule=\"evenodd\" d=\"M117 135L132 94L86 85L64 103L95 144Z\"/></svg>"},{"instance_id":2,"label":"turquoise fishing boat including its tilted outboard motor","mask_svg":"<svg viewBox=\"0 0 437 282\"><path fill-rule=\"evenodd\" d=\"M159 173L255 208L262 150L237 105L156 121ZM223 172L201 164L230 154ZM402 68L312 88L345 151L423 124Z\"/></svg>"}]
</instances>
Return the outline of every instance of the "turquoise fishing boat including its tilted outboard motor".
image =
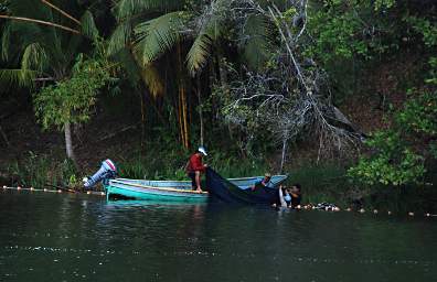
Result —
<instances>
[{"instance_id":1,"label":"turquoise fishing boat including its tilted outboard motor","mask_svg":"<svg viewBox=\"0 0 437 282\"><path fill-rule=\"evenodd\" d=\"M207 169L211 170L211 169ZM192 191L190 181L148 181L115 178L117 169L110 160L102 163L100 169L89 178L84 178L86 188L103 182L107 198L147 199L167 202L206 202L207 192ZM264 176L239 177L226 180L233 187L246 191ZM287 175L273 175L271 188L276 188L287 178ZM206 187L207 189L207 187Z\"/></svg>"}]
</instances>

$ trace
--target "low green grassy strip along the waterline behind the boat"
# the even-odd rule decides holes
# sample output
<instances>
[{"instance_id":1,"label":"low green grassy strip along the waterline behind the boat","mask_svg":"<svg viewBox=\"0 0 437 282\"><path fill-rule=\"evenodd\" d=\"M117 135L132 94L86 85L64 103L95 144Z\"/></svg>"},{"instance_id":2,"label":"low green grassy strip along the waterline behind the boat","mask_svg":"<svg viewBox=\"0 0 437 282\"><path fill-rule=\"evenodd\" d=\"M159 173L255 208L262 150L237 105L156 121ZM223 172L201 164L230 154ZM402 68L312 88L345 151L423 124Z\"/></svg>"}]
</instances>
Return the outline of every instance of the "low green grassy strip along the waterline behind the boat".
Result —
<instances>
[{"instance_id":1,"label":"low green grassy strip along the waterline behind the boat","mask_svg":"<svg viewBox=\"0 0 437 282\"><path fill-rule=\"evenodd\" d=\"M183 149L149 150L150 153L132 151L129 158L115 158L121 177L148 180L188 180L184 165L190 152ZM224 177L263 175L271 171L262 158L242 159L236 154L210 151L205 163ZM54 160L49 155L30 153L22 162L8 166L9 185L33 187L62 186L79 188L82 177L93 174L99 163L87 171L77 171L68 161ZM285 185L299 183L302 186L303 203L333 203L342 208L365 208L367 210L391 210L436 213L437 193L433 186L424 187L366 187L353 183L347 176L348 165L339 163L301 164L286 167L289 175ZM99 189L100 187L97 187Z\"/></svg>"}]
</instances>

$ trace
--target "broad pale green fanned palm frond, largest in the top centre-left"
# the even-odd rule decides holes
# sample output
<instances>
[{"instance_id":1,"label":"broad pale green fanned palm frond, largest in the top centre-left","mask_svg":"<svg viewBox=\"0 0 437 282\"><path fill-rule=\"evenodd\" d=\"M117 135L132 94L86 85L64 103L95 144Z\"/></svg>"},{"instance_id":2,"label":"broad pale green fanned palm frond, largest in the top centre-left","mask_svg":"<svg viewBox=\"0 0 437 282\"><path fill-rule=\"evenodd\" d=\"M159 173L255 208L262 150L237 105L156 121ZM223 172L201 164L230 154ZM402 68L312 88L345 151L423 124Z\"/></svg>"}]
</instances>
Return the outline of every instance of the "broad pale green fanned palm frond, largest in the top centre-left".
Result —
<instances>
[{"instance_id":1,"label":"broad pale green fanned palm frond, largest in the top centre-left","mask_svg":"<svg viewBox=\"0 0 437 282\"><path fill-rule=\"evenodd\" d=\"M143 65L150 64L181 40L186 12L171 12L138 24L135 29L135 52Z\"/></svg>"}]
</instances>

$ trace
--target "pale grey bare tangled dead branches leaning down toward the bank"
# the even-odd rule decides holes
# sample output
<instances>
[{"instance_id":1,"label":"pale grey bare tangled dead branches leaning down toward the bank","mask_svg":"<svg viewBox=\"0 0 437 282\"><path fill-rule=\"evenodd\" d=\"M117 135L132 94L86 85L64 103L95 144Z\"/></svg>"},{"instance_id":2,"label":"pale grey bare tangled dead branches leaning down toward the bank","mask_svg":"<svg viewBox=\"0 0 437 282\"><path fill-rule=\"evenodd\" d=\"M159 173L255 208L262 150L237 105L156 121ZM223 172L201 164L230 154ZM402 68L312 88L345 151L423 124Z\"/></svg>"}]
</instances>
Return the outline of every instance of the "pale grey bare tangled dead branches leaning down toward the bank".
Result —
<instances>
[{"instance_id":1,"label":"pale grey bare tangled dead branches leaning down toward the bank","mask_svg":"<svg viewBox=\"0 0 437 282\"><path fill-rule=\"evenodd\" d=\"M306 44L305 40L310 39L307 33L308 1L289 1L289 6L297 10L299 24L298 21L286 19L273 3L263 8L253 0L236 2L232 9L234 20L245 21L254 13L270 19L281 45L280 54L275 58L274 72L247 72L246 79L231 84L228 90L233 98L225 107L227 118L244 127L247 108L253 109L255 117L269 124L278 137L278 142L283 144L283 161L288 140L303 131L318 135L319 158L331 148L341 152L348 151L349 144L359 143L360 132L331 102L327 74L298 50L299 45ZM296 31L296 28L299 29ZM238 112L242 109L246 111Z\"/></svg>"}]
</instances>

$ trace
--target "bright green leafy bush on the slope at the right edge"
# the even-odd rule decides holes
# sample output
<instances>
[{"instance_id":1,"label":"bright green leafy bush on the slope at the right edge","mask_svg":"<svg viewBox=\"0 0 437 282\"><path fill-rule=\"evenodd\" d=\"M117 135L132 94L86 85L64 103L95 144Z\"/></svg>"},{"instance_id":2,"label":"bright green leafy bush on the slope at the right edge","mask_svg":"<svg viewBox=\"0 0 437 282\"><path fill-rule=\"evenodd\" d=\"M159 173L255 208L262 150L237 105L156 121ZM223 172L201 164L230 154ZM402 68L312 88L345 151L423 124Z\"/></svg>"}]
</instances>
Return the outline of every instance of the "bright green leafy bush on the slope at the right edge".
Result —
<instances>
[{"instance_id":1,"label":"bright green leafy bush on the slope at the right edge","mask_svg":"<svg viewBox=\"0 0 437 282\"><path fill-rule=\"evenodd\" d=\"M437 46L437 25L429 20L411 18L413 29L425 45ZM437 160L437 76L435 52L430 52L429 75L420 89L409 89L404 107L394 113L393 127L375 132L366 142L375 150L350 170L352 176L374 185L425 184L434 174Z\"/></svg>"}]
</instances>

